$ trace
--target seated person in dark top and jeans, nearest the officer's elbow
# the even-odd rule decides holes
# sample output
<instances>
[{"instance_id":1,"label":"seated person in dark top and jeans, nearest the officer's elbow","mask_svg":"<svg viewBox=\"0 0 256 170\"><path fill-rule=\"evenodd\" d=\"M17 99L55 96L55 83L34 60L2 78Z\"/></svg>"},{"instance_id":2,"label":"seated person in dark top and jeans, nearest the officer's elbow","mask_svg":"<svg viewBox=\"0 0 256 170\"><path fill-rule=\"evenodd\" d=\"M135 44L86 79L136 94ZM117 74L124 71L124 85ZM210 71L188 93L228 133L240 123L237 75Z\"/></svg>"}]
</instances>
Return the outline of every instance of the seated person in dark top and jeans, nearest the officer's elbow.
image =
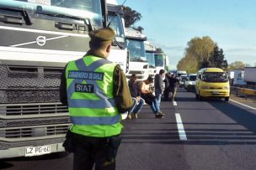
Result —
<instances>
[{"instance_id":1,"label":"seated person in dark top and jeans, nearest the officer's elbow","mask_svg":"<svg viewBox=\"0 0 256 170\"><path fill-rule=\"evenodd\" d=\"M138 113L141 111L141 108L145 103L145 100L141 98L139 86L136 80L136 75L131 75L131 78L128 82L131 97L133 98L133 100L135 100L134 105L131 107L131 111L129 111L127 116L129 119L131 119L131 114L134 114L135 118L137 119Z\"/></svg>"}]
</instances>

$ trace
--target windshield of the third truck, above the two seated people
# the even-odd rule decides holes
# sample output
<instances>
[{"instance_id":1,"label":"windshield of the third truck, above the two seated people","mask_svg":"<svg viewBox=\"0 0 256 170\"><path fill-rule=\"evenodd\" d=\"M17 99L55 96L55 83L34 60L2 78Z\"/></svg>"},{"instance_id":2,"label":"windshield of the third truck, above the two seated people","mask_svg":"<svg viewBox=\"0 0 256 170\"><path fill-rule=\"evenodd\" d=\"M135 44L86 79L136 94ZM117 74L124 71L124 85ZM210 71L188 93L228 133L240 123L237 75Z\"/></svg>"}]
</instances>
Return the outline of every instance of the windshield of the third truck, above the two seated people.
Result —
<instances>
[{"instance_id":1,"label":"windshield of the third truck, above the two seated people","mask_svg":"<svg viewBox=\"0 0 256 170\"><path fill-rule=\"evenodd\" d=\"M126 39L125 44L130 52L131 61L147 61L143 41Z\"/></svg>"}]
</instances>

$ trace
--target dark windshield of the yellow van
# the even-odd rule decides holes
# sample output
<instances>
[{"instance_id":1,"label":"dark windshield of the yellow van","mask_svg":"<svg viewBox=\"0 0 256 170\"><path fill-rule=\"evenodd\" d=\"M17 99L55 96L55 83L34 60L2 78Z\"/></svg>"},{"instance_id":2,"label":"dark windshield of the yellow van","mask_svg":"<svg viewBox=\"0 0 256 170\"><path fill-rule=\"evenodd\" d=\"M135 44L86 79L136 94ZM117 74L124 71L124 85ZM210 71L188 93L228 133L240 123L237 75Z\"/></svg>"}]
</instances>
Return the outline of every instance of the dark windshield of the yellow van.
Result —
<instances>
[{"instance_id":1,"label":"dark windshield of the yellow van","mask_svg":"<svg viewBox=\"0 0 256 170\"><path fill-rule=\"evenodd\" d=\"M202 75L202 80L205 82L227 82L228 76L223 72L205 72Z\"/></svg>"}]
</instances>

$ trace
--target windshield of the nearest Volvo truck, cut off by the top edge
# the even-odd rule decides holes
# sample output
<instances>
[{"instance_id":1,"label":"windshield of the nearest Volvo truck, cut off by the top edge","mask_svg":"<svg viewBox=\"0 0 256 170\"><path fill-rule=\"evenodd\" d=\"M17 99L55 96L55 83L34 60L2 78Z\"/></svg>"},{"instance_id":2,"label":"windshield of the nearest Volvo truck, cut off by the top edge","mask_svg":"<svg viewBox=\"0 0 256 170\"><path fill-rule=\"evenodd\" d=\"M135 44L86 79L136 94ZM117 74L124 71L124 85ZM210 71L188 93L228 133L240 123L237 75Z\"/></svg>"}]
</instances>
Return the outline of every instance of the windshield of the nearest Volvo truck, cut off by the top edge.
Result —
<instances>
[{"instance_id":1,"label":"windshield of the nearest Volvo truck, cut off by the top edge","mask_svg":"<svg viewBox=\"0 0 256 170\"><path fill-rule=\"evenodd\" d=\"M36 13L47 13L90 19L92 25L102 25L100 0L1 0L0 6L26 10L33 17L38 17Z\"/></svg>"}]
</instances>

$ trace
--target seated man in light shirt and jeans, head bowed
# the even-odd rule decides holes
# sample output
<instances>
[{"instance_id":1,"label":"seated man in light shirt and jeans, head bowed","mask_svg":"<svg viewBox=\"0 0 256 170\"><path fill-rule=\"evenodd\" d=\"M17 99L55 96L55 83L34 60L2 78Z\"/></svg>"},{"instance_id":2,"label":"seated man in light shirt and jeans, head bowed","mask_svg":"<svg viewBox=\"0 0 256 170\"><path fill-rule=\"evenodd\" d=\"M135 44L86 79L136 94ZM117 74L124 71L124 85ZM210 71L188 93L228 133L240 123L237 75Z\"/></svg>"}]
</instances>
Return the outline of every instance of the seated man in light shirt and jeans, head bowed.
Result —
<instances>
[{"instance_id":1,"label":"seated man in light shirt and jeans, head bowed","mask_svg":"<svg viewBox=\"0 0 256 170\"><path fill-rule=\"evenodd\" d=\"M141 97L145 100L147 105L149 105L155 114L156 118L163 118L164 114L160 111L158 106L158 101L155 95L152 94L152 91L149 90L148 85L153 83L153 78L149 76L147 80L141 81L140 92Z\"/></svg>"}]
</instances>

